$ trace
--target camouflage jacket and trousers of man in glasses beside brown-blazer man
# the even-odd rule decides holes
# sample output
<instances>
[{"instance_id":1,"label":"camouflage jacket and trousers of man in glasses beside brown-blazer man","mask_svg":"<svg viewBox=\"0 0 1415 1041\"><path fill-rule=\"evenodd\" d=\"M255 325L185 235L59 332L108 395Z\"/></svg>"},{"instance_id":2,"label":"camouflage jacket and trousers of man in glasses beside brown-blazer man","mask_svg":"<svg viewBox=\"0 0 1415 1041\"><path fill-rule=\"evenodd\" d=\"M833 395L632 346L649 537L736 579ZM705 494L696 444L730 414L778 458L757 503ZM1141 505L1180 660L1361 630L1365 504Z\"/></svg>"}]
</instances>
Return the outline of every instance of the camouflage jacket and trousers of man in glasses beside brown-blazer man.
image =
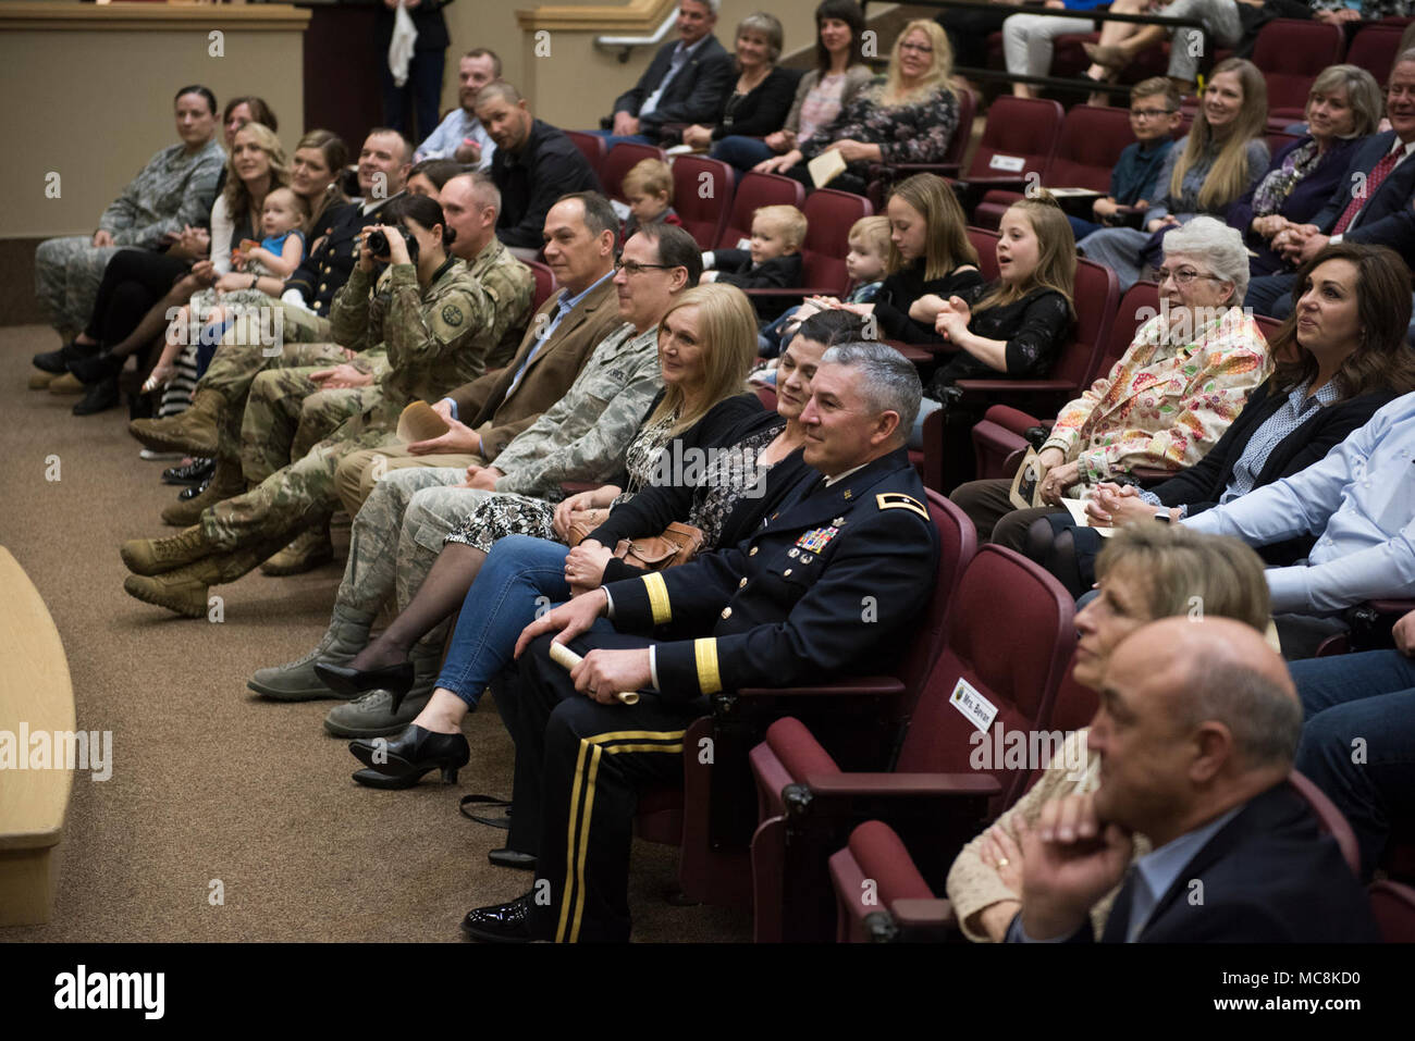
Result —
<instances>
[{"instance_id":1,"label":"camouflage jacket and trousers of man in glasses beside brown-blazer man","mask_svg":"<svg viewBox=\"0 0 1415 1041\"><path fill-rule=\"evenodd\" d=\"M662 386L658 327L641 335L621 325L594 348L574 385L497 457L497 491L454 488L461 468L388 471L354 518L338 604L378 611L396 594L412 600L447 537L483 502L518 492L552 502L562 481L604 481L624 467L654 395ZM395 552L396 550L396 552ZM437 631L423 638L436 641Z\"/></svg>"}]
</instances>

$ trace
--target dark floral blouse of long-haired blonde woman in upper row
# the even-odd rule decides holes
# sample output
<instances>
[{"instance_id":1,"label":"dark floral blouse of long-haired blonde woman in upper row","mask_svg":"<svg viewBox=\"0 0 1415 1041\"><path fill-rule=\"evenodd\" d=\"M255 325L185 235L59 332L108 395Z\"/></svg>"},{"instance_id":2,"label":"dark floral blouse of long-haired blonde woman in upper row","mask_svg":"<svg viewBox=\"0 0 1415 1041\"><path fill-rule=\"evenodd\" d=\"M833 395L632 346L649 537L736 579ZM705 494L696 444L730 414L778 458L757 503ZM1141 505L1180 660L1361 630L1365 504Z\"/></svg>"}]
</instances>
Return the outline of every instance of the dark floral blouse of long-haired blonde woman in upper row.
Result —
<instances>
[{"instance_id":1,"label":"dark floral blouse of long-haired blonde woman in upper row","mask_svg":"<svg viewBox=\"0 0 1415 1041\"><path fill-rule=\"evenodd\" d=\"M883 105L884 76L860 91L833 123L821 127L797 146L805 158L815 158L832 141L852 140L880 146L886 163L942 163L958 126L958 99L947 86L935 86L903 105ZM869 163L857 160L849 171L863 177Z\"/></svg>"}]
</instances>

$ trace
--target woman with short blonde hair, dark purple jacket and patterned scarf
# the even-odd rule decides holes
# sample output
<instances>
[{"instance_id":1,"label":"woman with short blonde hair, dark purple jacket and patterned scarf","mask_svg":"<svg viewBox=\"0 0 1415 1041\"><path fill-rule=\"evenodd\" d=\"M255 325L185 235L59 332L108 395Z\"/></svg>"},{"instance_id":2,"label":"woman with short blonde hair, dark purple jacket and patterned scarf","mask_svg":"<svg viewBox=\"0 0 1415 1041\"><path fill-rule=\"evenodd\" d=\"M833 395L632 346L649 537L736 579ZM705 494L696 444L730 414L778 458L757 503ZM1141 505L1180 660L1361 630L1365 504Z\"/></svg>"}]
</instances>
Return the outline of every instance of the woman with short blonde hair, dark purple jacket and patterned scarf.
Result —
<instances>
[{"instance_id":1,"label":"woman with short blonde hair, dark purple jacket and patterned scarf","mask_svg":"<svg viewBox=\"0 0 1415 1041\"><path fill-rule=\"evenodd\" d=\"M1272 157L1258 184L1228 209L1228 225L1244 233L1257 256L1254 276L1290 270L1269 245L1272 236L1307 223L1337 188L1351 149L1375 133L1381 120L1381 88L1356 65L1332 65L1307 95L1307 136Z\"/></svg>"}]
</instances>

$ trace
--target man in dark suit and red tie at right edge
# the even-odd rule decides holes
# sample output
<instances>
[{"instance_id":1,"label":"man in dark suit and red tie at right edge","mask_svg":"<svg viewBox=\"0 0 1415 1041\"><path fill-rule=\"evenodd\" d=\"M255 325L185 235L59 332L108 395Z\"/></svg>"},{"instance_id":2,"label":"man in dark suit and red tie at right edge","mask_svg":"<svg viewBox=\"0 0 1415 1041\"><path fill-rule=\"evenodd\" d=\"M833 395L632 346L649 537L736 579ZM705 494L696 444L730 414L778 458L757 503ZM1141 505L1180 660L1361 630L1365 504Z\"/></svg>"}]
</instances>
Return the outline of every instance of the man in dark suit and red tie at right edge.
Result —
<instances>
[{"instance_id":1,"label":"man in dark suit and red tie at right edge","mask_svg":"<svg viewBox=\"0 0 1415 1041\"><path fill-rule=\"evenodd\" d=\"M1278 232L1272 248L1285 260L1302 264L1329 242L1390 246L1415 264L1415 50L1391 68L1385 88L1385 116L1391 129L1356 149L1346 175L1312 223ZM1286 318L1292 313L1296 274L1279 272L1248 283L1244 304L1258 314Z\"/></svg>"}]
</instances>

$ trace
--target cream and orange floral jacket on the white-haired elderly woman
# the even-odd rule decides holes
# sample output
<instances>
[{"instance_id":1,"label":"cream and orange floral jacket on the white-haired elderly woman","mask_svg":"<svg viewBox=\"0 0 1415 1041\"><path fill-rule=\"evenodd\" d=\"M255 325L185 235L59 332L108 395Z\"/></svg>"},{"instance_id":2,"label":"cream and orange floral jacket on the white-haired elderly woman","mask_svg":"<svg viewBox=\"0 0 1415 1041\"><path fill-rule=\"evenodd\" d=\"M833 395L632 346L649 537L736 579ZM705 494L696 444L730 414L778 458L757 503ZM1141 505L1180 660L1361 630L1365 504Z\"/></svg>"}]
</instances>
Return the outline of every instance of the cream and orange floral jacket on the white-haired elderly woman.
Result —
<instances>
[{"instance_id":1,"label":"cream and orange floral jacket on the white-haired elderly woman","mask_svg":"<svg viewBox=\"0 0 1415 1041\"><path fill-rule=\"evenodd\" d=\"M1043 446L1078 460L1081 484L1133 467L1194 465L1272 371L1262 331L1237 307L1193 337L1176 338L1187 330L1166 332L1162 321L1139 328L1109 375L1061 410Z\"/></svg>"}]
</instances>

